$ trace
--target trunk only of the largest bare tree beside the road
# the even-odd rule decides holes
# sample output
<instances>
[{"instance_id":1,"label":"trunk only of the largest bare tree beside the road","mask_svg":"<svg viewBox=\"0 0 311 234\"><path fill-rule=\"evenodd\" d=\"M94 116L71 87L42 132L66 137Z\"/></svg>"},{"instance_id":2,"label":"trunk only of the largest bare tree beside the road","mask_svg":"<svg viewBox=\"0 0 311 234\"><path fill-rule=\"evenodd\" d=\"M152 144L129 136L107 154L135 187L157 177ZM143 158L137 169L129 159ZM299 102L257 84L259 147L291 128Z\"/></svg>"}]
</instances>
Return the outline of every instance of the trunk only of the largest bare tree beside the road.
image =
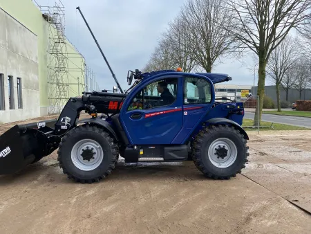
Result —
<instances>
[{"instance_id":1,"label":"trunk only of the largest bare tree beside the road","mask_svg":"<svg viewBox=\"0 0 311 234\"><path fill-rule=\"evenodd\" d=\"M265 54L259 57L259 68L258 68L258 89L257 96L259 96L259 105L256 107L254 126L258 126L261 123L261 114L263 112L263 97L265 96ZM258 123L259 121L259 123Z\"/></svg>"}]
</instances>

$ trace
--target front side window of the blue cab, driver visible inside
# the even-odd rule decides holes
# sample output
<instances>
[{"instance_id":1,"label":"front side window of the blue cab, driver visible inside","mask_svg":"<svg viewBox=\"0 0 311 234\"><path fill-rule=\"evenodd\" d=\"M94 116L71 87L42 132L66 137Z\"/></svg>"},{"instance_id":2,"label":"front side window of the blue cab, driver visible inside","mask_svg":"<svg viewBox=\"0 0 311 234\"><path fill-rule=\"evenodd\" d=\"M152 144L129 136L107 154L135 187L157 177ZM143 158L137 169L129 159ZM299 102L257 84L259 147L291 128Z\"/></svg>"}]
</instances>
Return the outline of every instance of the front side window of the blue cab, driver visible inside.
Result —
<instances>
[{"instance_id":1,"label":"front side window of the blue cab, driver visible inside","mask_svg":"<svg viewBox=\"0 0 311 234\"><path fill-rule=\"evenodd\" d=\"M151 109L172 105L177 98L178 78L157 80L138 91L131 100L128 111Z\"/></svg>"}]
</instances>

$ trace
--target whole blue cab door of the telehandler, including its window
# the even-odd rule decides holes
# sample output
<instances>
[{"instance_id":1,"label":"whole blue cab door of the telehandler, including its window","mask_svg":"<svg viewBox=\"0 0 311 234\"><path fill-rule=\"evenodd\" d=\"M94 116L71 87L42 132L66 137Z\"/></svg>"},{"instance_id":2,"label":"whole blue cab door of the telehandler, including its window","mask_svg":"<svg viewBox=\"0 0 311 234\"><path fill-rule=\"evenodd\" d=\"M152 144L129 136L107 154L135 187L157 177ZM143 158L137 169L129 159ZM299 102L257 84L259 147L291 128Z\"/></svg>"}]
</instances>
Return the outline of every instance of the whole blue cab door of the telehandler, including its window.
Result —
<instances>
[{"instance_id":1,"label":"whole blue cab door of the telehandler, including its window","mask_svg":"<svg viewBox=\"0 0 311 234\"><path fill-rule=\"evenodd\" d=\"M167 84L173 96L169 104L158 92L159 82ZM182 78L162 77L135 88L122 106L120 122L133 145L170 144L182 128ZM136 91L137 90L137 91ZM134 91L134 90L133 90Z\"/></svg>"}]
</instances>

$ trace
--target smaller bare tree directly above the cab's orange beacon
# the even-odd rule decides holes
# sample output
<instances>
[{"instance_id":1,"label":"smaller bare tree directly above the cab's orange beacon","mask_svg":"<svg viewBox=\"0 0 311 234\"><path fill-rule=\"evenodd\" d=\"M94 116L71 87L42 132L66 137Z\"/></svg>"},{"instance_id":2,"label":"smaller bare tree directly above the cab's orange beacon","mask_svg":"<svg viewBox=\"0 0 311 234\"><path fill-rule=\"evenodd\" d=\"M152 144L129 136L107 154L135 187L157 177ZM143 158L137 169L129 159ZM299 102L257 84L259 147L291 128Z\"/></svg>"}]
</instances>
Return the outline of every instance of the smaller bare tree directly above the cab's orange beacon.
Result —
<instances>
[{"instance_id":1,"label":"smaller bare tree directly above the cab's orange beacon","mask_svg":"<svg viewBox=\"0 0 311 234\"><path fill-rule=\"evenodd\" d=\"M163 33L163 38L169 46L173 66L180 67L185 72L190 72L196 66L193 48L189 46L187 40L189 34L190 31L185 24L185 19L180 15L169 23L168 30Z\"/></svg>"}]
</instances>

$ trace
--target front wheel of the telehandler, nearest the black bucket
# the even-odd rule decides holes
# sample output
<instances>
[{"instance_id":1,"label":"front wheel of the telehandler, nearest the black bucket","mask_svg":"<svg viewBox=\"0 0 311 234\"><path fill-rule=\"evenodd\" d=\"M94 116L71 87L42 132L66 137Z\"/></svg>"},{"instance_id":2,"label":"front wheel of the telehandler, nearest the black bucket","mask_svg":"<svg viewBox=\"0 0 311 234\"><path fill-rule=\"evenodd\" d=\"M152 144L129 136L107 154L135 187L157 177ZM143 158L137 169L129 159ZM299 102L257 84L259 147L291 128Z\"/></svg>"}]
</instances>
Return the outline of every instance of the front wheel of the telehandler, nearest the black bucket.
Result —
<instances>
[{"instance_id":1,"label":"front wheel of the telehandler, nearest the black bucket","mask_svg":"<svg viewBox=\"0 0 311 234\"><path fill-rule=\"evenodd\" d=\"M90 159L92 154L94 156ZM59 167L69 179L80 183L104 179L115 168L117 159L115 138L106 129L95 125L75 127L59 144Z\"/></svg>"}]
</instances>

